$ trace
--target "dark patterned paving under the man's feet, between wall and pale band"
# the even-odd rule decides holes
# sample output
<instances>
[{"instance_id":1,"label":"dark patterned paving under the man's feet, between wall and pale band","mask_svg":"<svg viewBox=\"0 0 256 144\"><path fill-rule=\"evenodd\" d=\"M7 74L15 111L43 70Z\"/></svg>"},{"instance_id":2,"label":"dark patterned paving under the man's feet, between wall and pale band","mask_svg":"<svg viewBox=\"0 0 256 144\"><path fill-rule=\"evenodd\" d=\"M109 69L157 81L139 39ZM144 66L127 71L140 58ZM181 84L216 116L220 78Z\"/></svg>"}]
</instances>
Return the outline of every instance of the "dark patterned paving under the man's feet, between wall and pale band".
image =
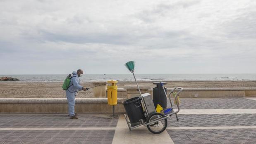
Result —
<instances>
[{"instance_id":1,"label":"dark patterned paving under the man's feet, between wall and pale band","mask_svg":"<svg viewBox=\"0 0 256 144\"><path fill-rule=\"evenodd\" d=\"M81 114L72 120L65 114L1 114L0 127L116 127L118 118Z\"/></svg>"}]
</instances>

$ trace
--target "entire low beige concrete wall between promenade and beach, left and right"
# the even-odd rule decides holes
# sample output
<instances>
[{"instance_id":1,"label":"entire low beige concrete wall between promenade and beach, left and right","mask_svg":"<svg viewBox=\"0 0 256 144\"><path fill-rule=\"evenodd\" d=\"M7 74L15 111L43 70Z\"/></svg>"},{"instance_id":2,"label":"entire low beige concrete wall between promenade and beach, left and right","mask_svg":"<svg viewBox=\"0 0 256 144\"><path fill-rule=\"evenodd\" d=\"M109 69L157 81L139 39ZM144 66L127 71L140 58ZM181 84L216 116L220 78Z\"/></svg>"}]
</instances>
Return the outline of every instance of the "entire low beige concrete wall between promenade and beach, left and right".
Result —
<instances>
[{"instance_id":1,"label":"entire low beige concrete wall between promenade and beach, left and right","mask_svg":"<svg viewBox=\"0 0 256 144\"><path fill-rule=\"evenodd\" d=\"M130 89L129 89L130 88ZM143 92L153 93L153 89ZM172 88L167 88L169 93ZM118 89L116 113L123 113L122 102L139 94L136 87ZM256 97L256 88L184 88L180 97ZM66 98L0 98L0 113L67 113ZM77 113L112 113L107 98L76 98Z\"/></svg>"}]
</instances>

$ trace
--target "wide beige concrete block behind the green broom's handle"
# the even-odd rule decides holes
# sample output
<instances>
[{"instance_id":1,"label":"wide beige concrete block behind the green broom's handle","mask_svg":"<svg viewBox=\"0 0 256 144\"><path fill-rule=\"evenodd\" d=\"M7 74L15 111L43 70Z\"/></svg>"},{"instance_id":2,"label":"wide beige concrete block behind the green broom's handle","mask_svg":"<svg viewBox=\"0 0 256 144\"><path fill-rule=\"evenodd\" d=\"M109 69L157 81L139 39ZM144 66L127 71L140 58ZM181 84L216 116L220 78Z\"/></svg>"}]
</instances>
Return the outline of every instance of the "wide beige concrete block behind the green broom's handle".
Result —
<instances>
[{"instance_id":1,"label":"wide beige concrete block behind the green broom's handle","mask_svg":"<svg viewBox=\"0 0 256 144\"><path fill-rule=\"evenodd\" d=\"M139 86L139 88L141 90L141 94L146 93L146 92L150 93L150 92L148 92L148 89L151 89L151 87L148 85L142 85L142 86ZM130 99L132 97L138 97L140 95L136 84L124 85L124 89L127 90L127 99Z\"/></svg>"}]
</instances>

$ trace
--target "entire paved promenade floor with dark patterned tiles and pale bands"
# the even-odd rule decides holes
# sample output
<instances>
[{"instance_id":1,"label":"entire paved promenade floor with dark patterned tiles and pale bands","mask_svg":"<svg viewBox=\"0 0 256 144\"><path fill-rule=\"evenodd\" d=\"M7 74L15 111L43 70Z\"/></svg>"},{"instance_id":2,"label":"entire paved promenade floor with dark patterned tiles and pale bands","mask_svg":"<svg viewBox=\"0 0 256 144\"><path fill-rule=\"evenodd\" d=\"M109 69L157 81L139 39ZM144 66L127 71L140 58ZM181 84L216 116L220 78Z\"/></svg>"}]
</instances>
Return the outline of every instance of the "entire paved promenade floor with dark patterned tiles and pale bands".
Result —
<instances>
[{"instance_id":1,"label":"entire paved promenade floor with dark patterned tiles and pale bands","mask_svg":"<svg viewBox=\"0 0 256 144\"><path fill-rule=\"evenodd\" d=\"M1 113L0 144L256 144L256 98L182 98L179 121L152 134L124 116Z\"/></svg>"}]
</instances>

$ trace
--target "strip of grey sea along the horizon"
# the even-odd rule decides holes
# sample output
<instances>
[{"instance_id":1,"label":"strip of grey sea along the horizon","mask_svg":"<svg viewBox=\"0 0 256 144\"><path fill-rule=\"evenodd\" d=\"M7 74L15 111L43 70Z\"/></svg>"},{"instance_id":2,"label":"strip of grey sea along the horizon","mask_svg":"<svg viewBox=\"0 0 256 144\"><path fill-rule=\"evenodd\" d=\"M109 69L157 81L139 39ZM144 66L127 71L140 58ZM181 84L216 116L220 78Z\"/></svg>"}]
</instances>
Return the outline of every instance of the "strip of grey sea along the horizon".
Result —
<instances>
[{"instance_id":1,"label":"strip of grey sea along the horizon","mask_svg":"<svg viewBox=\"0 0 256 144\"><path fill-rule=\"evenodd\" d=\"M62 82L67 75L47 74L47 75L0 75L18 78L26 82ZM169 81L169 80L256 80L256 73L250 74L135 74L138 81ZM91 81L134 81L130 74L85 74L80 77L83 82Z\"/></svg>"}]
</instances>

